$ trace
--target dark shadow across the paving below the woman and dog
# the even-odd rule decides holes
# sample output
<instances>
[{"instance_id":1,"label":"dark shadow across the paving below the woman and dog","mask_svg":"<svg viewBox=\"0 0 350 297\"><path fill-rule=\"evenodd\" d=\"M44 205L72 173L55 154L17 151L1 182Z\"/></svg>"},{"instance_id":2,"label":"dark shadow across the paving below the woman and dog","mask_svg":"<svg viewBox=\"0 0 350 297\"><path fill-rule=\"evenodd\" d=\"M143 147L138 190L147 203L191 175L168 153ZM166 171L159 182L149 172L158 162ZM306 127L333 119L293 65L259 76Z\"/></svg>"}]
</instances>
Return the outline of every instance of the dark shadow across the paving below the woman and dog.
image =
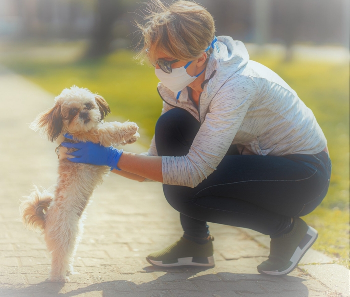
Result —
<instances>
[{"instance_id":1,"label":"dark shadow across the paving below the woman and dog","mask_svg":"<svg viewBox=\"0 0 350 297\"><path fill-rule=\"evenodd\" d=\"M104 281L76 287L76 283L40 282L25 288L0 289L0 296L53 297L53 296L128 296L128 297L239 297L239 296L305 296L309 295L302 278L293 276L268 277L259 274L220 272L196 276L198 268L158 269L143 268L144 273L163 271L157 279L137 284L128 280ZM141 273L143 274L143 273ZM137 281L136 281L137 282ZM82 286L83 284L79 284Z\"/></svg>"}]
</instances>

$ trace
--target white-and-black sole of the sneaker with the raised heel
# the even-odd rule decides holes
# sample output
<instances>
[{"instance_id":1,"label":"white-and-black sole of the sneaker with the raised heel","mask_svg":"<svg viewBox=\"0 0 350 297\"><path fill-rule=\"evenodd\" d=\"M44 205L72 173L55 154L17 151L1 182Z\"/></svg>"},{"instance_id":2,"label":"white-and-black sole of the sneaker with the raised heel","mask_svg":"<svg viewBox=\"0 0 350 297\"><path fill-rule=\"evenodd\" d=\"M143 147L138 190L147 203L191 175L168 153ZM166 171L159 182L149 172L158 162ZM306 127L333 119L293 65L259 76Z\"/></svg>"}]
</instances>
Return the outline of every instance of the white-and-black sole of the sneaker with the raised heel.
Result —
<instances>
[{"instance_id":1,"label":"white-and-black sole of the sneaker with the raised heel","mask_svg":"<svg viewBox=\"0 0 350 297\"><path fill-rule=\"evenodd\" d=\"M289 263L280 268L279 270L274 271L264 271L260 270L259 273L266 274L266 275L274 275L274 276L284 276L290 273L294 270L294 268L298 265L306 251L312 246L312 244L316 241L318 237L317 231L312 228L308 227L308 230L306 232L306 235L302 238L302 240L299 243L299 246L296 248L294 254L291 256Z\"/></svg>"}]
</instances>

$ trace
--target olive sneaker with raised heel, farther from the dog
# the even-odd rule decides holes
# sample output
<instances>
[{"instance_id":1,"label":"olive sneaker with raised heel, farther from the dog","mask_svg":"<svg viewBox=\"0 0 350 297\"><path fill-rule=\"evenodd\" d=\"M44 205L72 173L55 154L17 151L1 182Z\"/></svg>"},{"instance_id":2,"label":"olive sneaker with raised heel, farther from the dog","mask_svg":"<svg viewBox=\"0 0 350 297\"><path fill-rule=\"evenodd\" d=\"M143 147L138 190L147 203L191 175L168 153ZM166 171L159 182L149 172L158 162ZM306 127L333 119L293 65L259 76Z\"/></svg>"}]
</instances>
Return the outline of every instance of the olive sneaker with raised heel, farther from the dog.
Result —
<instances>
[{"instance_id":1,"label":"olive sneaker with raised heel, farther from the dog","mask_svg":"<svg viewBox=\"0 0 350 297\"><path fill-rule=\"evenodd\" d=\"M295 218L292 230L278 238L271 239L268 260L257 266L261 274L283 276L297 266L306 251L318 237L317 231L301 218Z\"/></svg>"}]
</instances>

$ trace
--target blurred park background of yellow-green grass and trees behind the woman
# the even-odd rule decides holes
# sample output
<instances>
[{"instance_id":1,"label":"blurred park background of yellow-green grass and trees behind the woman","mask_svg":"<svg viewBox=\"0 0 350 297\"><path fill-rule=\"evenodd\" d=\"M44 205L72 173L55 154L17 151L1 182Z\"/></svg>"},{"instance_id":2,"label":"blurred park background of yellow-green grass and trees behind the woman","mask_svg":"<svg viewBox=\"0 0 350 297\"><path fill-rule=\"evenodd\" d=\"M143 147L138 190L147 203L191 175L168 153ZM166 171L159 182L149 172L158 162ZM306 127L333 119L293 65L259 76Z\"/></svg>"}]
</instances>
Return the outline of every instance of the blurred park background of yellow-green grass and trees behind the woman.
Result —
<instances>
[{"instance_id":1,"label":"blurred park background of yellow-green grass and trees behind the woman","mask_svg":"<svg viewBox=\"0 0 350 297\"><path fill-rule=\"evenodd\" d=\"M349 1L197 2L214 16L217 35L245 42L251 59L279 74L315 114L333 171L327 197L305 220L320 233L313 247L349 267ZM74 84L101 94L109 120L138 123L146 150L162 100L153 68L132 59L134 21L145 8L138 0L1 0L0 63L52 99Z\"/></svg>"}]
</instances>

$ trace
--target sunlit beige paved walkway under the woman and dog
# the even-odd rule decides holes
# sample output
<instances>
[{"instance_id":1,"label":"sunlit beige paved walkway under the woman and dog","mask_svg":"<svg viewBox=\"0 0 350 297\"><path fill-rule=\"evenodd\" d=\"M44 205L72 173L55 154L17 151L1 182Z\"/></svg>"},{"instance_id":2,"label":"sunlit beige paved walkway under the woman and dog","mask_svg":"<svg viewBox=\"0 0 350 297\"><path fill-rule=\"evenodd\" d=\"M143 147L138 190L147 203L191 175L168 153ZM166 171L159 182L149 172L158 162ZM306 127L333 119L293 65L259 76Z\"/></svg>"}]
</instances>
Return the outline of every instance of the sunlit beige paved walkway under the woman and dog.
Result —
<instances>
[{"instance_id":1,"label":"sunlit beige paved walkway under the woman and dog","mask_svg":"<svg viewBox=\"0 0 350 297\"><path fill-rule=\"evenodd\" d=\"M159 183L139 183L112 174L88 207L75 271L65 284L45 282L50 256L43 237L24 230L19 199L32 184L56 180L55 145L28 123L52 106L53 95L0 69L0 296L295 297L348 296L349 271L310 250L285 277L261 276L269 238L246 229L210 224L216 266L157 269L145 256L181 236L178 213ZM142 151L137 145L130 149Z\"/></svg>"}]
</instances>

